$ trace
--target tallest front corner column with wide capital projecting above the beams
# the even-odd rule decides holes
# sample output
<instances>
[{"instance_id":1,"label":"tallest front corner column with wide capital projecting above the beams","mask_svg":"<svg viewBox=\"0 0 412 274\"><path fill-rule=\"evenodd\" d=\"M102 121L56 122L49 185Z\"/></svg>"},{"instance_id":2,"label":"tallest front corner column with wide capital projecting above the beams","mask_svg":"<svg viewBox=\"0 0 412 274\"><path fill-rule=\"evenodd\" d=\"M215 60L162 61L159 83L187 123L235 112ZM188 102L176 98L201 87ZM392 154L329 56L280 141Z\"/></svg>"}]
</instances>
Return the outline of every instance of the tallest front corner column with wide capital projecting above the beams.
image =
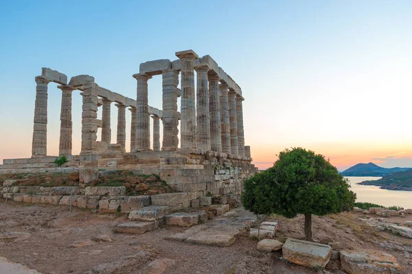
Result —
<instances>
[{"instance_id":1,"label":"tallest front corner column with wide capital projecting above the beams","mask_svg":"<svg viewBox=\"0 0 412 274\"><path fill-rule=\"evenodd\" d=\"M194 51L179 51L181 60L182 99L181 99L181 147L196 148L196 106L194 101Z\"/></svg>"}]
</instances>

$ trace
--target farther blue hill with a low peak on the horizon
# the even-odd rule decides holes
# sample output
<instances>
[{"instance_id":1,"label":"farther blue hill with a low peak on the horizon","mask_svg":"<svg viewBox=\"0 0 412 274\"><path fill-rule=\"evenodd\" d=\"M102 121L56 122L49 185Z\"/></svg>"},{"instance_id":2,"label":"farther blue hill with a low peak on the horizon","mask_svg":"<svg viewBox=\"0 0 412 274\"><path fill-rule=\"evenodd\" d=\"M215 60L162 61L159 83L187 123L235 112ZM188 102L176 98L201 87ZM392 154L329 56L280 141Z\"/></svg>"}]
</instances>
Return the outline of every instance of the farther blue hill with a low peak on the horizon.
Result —
<instances>
[{"instance_id":1,"label":"farther blue hill with a low peak on the horizon","mask_svg":"<svg viewBox=\"0 0 412 274\"><path fill-rule=\"evenodd\" d=\"M372 162L369 164L355 164L349 169L343 171L343 176L371 176L371 177L383 177L392 173L412 170L409 167L393 167L391 169L385 169L385 167L378 166Z\"/></svg>"}]
</instances>

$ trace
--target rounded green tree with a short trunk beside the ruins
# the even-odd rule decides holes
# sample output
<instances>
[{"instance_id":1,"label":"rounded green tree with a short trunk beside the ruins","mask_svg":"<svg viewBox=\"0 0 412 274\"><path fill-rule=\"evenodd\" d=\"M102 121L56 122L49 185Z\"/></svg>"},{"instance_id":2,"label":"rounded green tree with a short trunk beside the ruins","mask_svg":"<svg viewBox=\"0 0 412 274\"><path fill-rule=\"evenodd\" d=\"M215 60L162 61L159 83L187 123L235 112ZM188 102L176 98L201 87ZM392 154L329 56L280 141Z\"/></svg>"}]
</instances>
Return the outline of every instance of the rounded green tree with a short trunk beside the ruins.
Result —
<instances>
[{"instance_id":1,"label":"rounded green tree with a short trunk beside the ruins","mask_svg":"<svg viewBox=\"0 0 412 274\"><path fill-rule=\"evenodd\" d=\"M323 155L286 149L273 167L244 181L242 203L255 214L305 215L306 240L312 240L312 214L350 210L356 195L336 167Z\"/></svg>"}]
</instances>

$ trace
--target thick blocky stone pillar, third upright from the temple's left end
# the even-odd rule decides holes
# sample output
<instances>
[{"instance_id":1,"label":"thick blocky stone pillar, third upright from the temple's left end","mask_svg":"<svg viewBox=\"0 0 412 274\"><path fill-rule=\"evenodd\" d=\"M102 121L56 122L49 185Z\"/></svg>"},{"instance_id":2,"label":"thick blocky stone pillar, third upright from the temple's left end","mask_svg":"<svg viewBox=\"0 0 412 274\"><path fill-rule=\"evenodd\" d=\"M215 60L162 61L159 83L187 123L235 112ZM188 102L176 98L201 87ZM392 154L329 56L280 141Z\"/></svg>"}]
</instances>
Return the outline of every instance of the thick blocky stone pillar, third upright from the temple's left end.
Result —
<instances>
[{"instance_id":1,"label":"thick blocky stone pillar, third upright from the temple's left end","mask_svg":"<svg viewBox=\"0 0 412 274\"><path fill-rule=\"evenodd\" d=\"M80 155L97 155L98 85L93 82L84 84L82 110L82 151ZM87 160L89 159L87 158Z\"/></svg>"}]
</instances>

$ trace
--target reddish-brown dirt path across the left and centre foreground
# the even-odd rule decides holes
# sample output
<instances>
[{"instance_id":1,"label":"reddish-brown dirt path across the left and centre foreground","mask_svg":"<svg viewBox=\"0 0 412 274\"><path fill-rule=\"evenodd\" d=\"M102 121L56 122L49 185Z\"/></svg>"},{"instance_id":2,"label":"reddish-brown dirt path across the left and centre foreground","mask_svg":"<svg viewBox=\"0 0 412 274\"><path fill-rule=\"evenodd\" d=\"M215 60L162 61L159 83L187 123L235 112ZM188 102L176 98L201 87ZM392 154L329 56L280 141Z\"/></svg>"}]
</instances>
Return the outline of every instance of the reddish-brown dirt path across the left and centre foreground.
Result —
<instances>
[{"instance_id":1,"label":"reddish-brown dirt path across the left and centre foreground","mask_svg":"<svg viewBox=\"0 0 412 274\"><path fill-rule=\"evenodd\" d=\"M69 212L62 206L0 203L0 234L11 235L0 240L0 256L43 274L84 273L93 266L117 262L141 250L154 252L158 259L174 260L164 272L170 274L314 273L304 267L287 266L279 260L280 253L261 254L255 250L257 242L246 236L231 247L208 247L165 240L185 230L179 227L136 236L113 234L112 228L124 221L124 216L93 214L77 208ZM91 240L101 235L113 242ZM84 246L70 247L75 242Z\"/></svg>"}]
</instances>

